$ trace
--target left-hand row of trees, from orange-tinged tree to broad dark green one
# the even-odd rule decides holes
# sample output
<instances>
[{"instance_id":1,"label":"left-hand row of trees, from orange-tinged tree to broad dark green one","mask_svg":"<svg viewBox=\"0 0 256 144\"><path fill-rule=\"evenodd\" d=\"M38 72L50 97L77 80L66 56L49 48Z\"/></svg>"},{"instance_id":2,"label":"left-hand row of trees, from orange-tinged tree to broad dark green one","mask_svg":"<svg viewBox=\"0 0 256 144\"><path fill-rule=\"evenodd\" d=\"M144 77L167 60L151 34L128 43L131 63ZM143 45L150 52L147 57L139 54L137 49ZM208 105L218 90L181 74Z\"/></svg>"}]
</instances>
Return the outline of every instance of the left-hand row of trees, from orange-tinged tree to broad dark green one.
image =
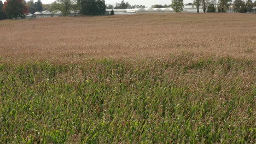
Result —
<instances>
[{"instance_id":1,"label":"left-hand row of trees, from orange-tinged tree to broad dark green one","mask_svg":"<svg viewBox=\"0 0 256 144\"><path fill-rule=\"evenodd\" d=\"M0 0L0 20L18 17L23 19L28 13L34 14L43 10L60 10L63 16L69 15L72 10L80 11L84 15L103 15L106 5L104 0L56 0L51 4L43 4L40 0L30 0L27 3L24 0L7 0L3 4Z\"/></svg>"}]
</instances>

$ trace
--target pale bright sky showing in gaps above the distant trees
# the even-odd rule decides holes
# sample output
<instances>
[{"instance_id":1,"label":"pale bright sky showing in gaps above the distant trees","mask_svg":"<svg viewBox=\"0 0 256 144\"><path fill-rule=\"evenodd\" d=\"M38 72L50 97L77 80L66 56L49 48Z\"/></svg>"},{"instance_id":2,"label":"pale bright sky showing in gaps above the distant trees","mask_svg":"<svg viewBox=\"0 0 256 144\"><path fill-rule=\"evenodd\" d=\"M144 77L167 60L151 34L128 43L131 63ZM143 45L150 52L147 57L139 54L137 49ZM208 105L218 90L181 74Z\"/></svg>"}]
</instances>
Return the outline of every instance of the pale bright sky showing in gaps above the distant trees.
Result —
<instances>
[{"instance_id":1,"label":"pale bright sky showing in gaps above the distant trees","mask_svg":"<svg viewBox=\"0 0 256 144\"><path fill-rule=\"evenodd\" d=\"M29 0L27 0L29 1ZM36 2L37 0L34 0ZM49 4L53 3L55 0L41 0L43 4ZM183 0L183 3L191 3L193 0ZM120 3L121 0L105 0L106 4L113 4L115 3ZM139 5L146 5L146 7L150 7L151 5L154 4L171 4L171 0L125 0L125 2L129 2L130 4L139 4Z\"/></svg>"}]
</instances>

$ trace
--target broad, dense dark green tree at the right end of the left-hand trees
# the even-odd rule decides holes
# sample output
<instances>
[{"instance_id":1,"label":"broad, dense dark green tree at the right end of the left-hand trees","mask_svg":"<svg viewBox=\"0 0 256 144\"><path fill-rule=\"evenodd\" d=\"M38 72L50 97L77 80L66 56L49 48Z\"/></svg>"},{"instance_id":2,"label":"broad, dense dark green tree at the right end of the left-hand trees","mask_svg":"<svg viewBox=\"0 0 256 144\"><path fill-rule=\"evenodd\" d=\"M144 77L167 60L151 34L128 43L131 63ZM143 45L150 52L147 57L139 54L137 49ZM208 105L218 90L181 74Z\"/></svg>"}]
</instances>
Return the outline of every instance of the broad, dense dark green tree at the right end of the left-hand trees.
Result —
<instances>
[{"instance_id":1,"label":"broad, dense dark green tree at the right end of the left-hand trees","mask_svg":"<svg viewBox=\"0 0 256 144\"><path fill-rule=\"evenodd\" d=\"M103 0L80 0L81 13L84 15L102 15L106 12Z\"/></svg>"}]
</instances>

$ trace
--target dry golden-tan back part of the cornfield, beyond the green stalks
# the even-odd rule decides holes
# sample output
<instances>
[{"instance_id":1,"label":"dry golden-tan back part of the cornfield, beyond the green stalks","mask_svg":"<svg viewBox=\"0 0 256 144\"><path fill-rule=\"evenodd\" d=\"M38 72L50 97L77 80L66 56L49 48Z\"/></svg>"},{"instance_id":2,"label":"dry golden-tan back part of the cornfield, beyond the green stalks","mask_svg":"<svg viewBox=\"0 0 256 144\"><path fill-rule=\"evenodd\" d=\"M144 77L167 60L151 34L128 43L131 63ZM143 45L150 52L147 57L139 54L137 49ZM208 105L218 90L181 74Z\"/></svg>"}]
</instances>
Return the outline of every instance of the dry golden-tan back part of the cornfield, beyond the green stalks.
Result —
<instances>
[{"instance_id":1,"label":"dry golden-tan back part of the cornfield, beyond the green stalks","mask_svg":"<svg viewBox=\"0 0 256 144\"><path fill-rule=\"evenodd\" d=\"M165 57L255 59L254 14L139 14L0 21L2 61ZM69 59L70 60L70 59Z\"/></svg>"}]
</instances>

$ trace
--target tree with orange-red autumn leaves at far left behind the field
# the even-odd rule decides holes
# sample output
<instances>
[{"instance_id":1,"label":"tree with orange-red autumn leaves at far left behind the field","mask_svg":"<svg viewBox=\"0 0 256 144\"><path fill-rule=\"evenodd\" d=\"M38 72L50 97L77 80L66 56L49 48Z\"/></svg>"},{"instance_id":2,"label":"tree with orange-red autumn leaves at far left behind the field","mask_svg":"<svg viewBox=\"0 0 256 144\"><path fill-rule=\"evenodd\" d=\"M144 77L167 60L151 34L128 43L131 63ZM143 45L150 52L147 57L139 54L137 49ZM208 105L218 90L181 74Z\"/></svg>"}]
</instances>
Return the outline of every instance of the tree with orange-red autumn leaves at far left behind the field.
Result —
<instances>
[{"instance_id":1,"label":"tree with orange-red autumn leaves at far left behind the field","mask_svg":"<svg viewBox=\"0 0 256 144\"><path fill-rule=\"evenodd\" d=\"M3 11L9 19L17 19L18 17L25 19L25 14L29 13L28 6L22 0L5 1Z\"/></svg>"}]
</instances>

